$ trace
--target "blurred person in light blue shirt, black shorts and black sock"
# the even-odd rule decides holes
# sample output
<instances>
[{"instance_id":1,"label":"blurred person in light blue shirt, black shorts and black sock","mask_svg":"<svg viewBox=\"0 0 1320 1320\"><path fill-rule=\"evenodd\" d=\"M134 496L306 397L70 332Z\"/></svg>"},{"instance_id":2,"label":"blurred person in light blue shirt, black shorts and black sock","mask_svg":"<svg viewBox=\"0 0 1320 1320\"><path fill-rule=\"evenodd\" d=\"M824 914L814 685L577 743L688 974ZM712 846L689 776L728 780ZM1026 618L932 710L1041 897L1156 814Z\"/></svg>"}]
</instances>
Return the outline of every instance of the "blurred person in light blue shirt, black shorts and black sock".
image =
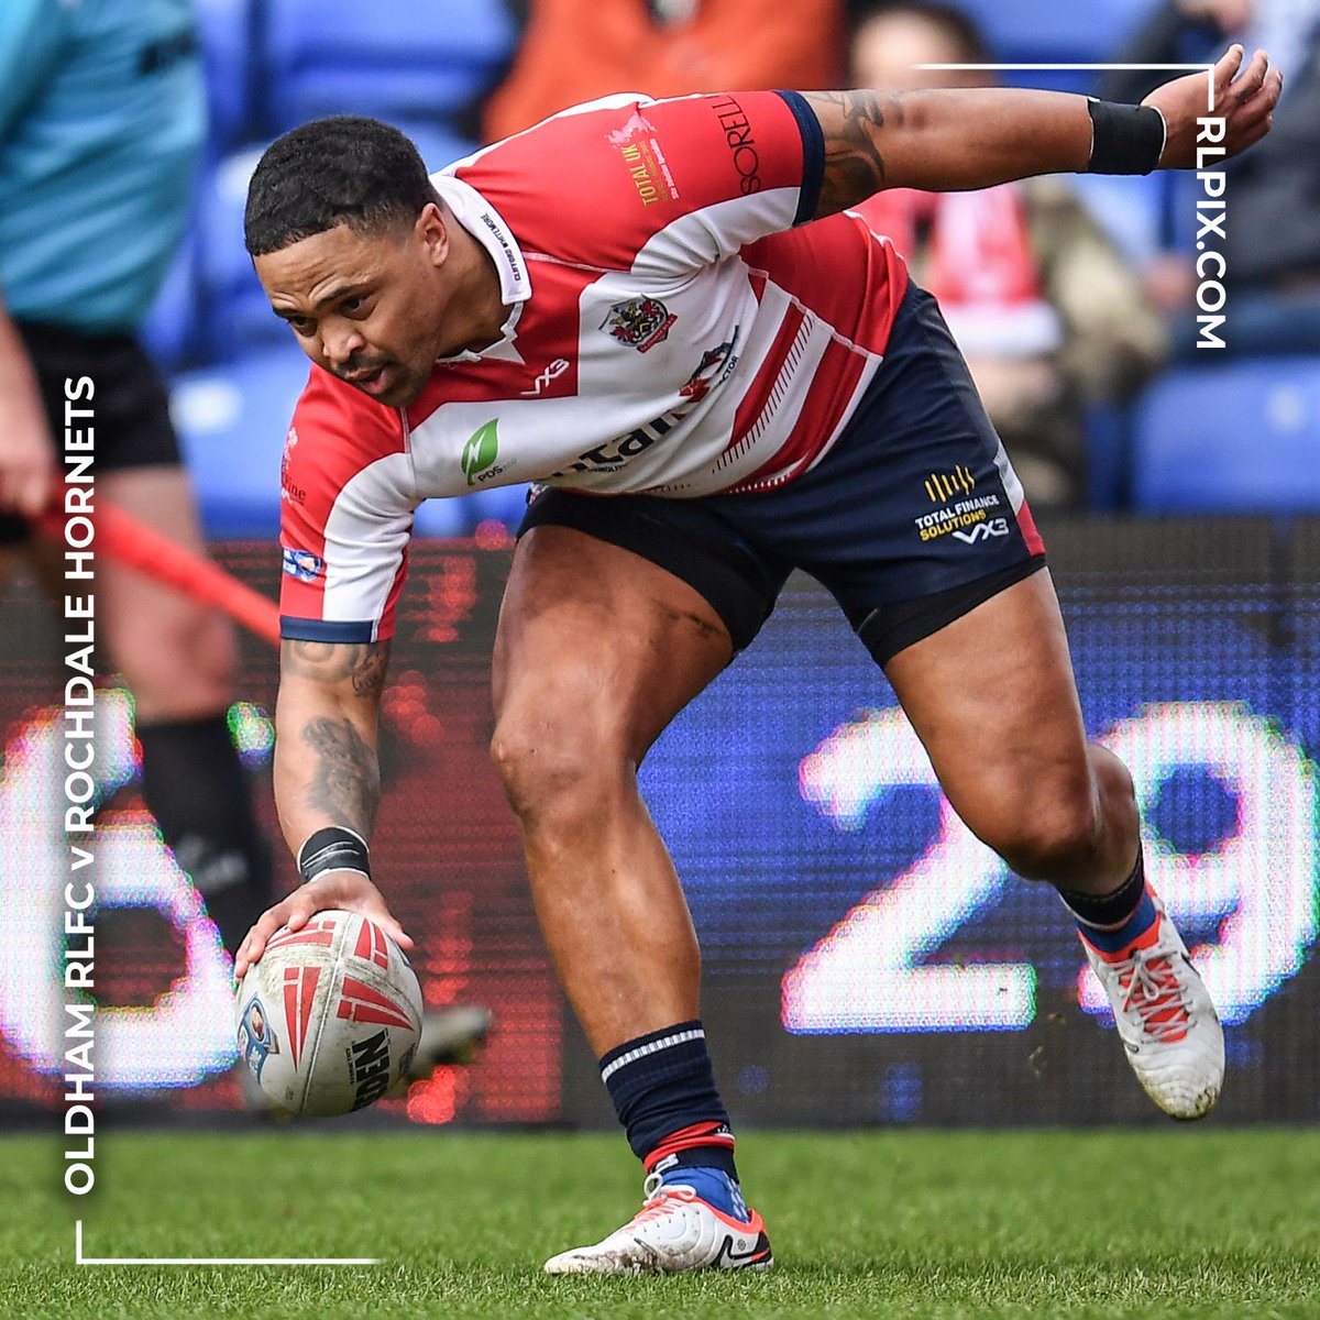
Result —
<instances>
[{"instance_id":1,"label":"blurred person in light blue shirt, black shorts and black sock","mask_svg":"<svg viewBox=\"0 0 1320 1320\"><path fill-rule=\"evenodd\" d=\"M165 388L133 334L183 232L205 136L187 0L0 4L0 573L26 553L57 581L59 552L26 519L58 496L69 378L95 388L98 500L202 546ZM226 723L232 631L108 560L96 615L133 694L147 807L232 950L272 892Z\"/></svg>"}]
</instances>

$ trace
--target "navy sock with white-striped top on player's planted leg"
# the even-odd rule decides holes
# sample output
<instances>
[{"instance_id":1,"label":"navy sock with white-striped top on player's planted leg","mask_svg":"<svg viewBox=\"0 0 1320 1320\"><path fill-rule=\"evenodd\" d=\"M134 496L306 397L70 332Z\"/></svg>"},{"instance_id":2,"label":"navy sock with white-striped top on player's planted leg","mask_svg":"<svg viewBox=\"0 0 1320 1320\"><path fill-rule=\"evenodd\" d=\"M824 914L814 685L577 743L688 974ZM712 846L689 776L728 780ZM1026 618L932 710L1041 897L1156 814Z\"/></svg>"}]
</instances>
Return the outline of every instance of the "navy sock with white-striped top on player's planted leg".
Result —
<instances>
[{"instance_id":1,"label":"navy sock with white-striped top on player's planted leg","mask_svg":"<svg viewBox=\"0 0 1320 1320\"><path fill-rule=\"evenodd\" d=\"M709 1168L737 1183L734 1134L700 1020L626 1040L601 1059L601 1080L648 1173Z\"/></svg>"}]
</instances>

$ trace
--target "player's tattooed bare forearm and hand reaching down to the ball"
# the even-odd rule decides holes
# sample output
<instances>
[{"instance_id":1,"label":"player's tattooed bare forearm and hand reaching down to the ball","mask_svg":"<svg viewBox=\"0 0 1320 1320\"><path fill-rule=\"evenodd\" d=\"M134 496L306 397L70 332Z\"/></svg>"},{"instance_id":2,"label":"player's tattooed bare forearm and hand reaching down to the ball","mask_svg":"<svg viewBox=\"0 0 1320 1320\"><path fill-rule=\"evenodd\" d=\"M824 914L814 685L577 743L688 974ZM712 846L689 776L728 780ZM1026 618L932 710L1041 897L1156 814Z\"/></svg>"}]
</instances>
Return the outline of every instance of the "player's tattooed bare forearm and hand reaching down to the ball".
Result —
<instances>
[{"instance_id":1,"label":"player's tattooed bare forearm and hand reaching down to the ball","mask_svg":"<svg viewBox=\"0 0 1320 1320\"><path fill-rule=\"evenodd\" d=\"M317 870L313 879L261 915L239 946L236 977L261 957L267 940L281 925L297 929L327 908L362 912L401 948L413 946L366 871L355 869L359 859L352 855L356 836L364 863L380 801L376 729L388 664L388 642L286 640L280 648L275 715L280 828L294 854L302 854L304 845L313 841L313 854L342 857L345 865ZM306 871L317 863L300 855L300 865Z\"/></svg>"}]
</instances>

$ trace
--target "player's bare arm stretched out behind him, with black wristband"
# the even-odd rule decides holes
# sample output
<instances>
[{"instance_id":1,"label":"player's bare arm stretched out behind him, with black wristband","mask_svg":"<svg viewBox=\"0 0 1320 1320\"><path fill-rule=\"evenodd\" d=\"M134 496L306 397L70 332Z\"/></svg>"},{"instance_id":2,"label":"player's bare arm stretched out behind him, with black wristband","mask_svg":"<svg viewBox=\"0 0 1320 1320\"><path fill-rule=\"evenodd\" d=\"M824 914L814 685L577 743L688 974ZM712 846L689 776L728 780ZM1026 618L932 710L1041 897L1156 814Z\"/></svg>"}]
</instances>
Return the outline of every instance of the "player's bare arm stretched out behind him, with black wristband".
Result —
<instances>
[{"instance_id":1,"label":"player's bare arm stretched out behind him, with black wristband","mask_svg":"<svg viewBox=\"0 0 1320 1320\"><path fill-rule=\"evenodd\" d=\"M1151 168L1196 165L1197 119L1222 117L1222 145L1229 156L1270 131L1283 75L1258 50L1242 67L1243 50L1233 46L1214 67L1214 110L1205 74L1189 74L1158 87L1142 103L1164 117L1167 132L1155 137L1150 158L1133 161L1133 173ZM1024 91L1011 87L968 87L906 92L804 92L825 135L825 180L816 218L854 206L886 187L953 193L990 187L1034 174L1109 168L1123 154L1102 143L1105 125L1093 123L1085 96ZM1119 116L1134 115L1115 107ZM1154 116L1147 121L1159 124ZM1121 123L1119 133L1127 133ZM1140 135L1138 133L1139 139ZM1093 158L1093 150L1096 157ZM1138 153L1139 154L1139 153Z\"/></svg>"}]
</instances>

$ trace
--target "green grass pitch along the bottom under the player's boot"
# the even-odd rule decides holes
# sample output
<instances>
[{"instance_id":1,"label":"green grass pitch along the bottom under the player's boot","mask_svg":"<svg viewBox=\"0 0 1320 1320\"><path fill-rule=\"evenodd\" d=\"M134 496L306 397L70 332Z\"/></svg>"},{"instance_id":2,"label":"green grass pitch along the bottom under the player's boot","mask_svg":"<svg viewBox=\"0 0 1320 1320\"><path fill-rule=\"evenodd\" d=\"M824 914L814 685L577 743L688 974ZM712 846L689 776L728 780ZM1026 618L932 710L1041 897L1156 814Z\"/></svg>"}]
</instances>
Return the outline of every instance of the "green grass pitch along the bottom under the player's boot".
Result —
<instances>
[{"instance_id":1,"label":"green grass pitch along the bottom under the player's boot","mask_svg":"<svg viewBox=\"0 0 1320 1320\"><path fill-rule=\"evenodd\" d=\"M552 1279L616 1228L638 1167L606 1135L0 1139L0 1316L1320 1316L1320 1131L748 1133L767 1275ZM84 1253L379 1255L375 1267L74 1265Z\"/></svg>"}]
</instances>

